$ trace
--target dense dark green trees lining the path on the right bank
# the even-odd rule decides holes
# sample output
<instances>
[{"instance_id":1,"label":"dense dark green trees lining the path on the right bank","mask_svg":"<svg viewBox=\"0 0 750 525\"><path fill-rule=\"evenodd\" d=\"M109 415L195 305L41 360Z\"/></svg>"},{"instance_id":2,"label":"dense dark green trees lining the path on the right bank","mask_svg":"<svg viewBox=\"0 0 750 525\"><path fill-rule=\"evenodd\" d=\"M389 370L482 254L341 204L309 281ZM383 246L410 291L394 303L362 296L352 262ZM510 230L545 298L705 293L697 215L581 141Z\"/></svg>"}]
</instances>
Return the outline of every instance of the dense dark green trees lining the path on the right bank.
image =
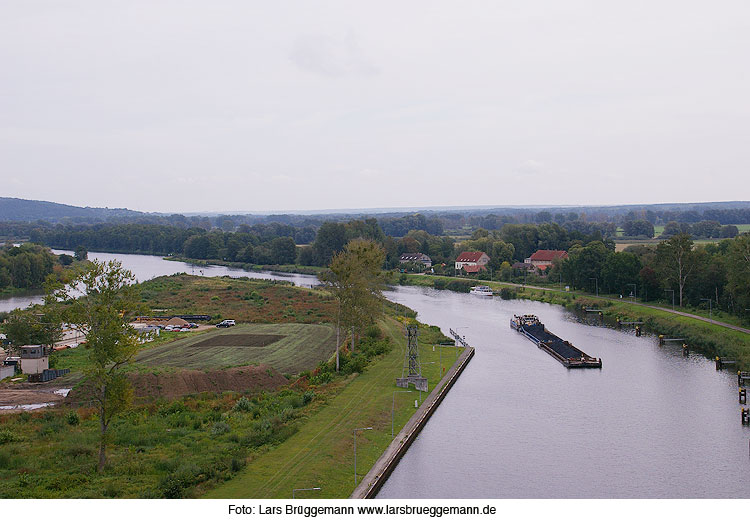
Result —
<instances>
[{"instance_id":1,"label":"dense dark green trees lining the path on the right bank","mask_svg":"<svg viewBox=\"0 0 750 525\"><path fill-rule=\"evenodd\" d=\"M645 301L674 294L680 306L710 299L714 307L744 313L750 308L750 235L695 245L689 234L679 233L657 246L623 252L600 241L575 244L549 277L591 293L633 294Z\"/></svg>"}]
</instances>

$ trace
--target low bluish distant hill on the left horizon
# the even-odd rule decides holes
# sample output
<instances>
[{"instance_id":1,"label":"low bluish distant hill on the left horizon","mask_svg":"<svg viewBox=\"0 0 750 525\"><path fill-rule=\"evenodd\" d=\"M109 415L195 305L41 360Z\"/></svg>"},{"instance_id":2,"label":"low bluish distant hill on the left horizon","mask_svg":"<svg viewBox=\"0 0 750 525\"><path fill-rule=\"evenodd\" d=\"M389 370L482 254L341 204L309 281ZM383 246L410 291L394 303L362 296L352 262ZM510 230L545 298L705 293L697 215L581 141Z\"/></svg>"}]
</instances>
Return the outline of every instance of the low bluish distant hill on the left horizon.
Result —
<instances>
[{"instance_id":1,"label":"low bluish distant hill on the left horizon","mask_svg":"<svg viewBox=\"0 0 750 525\"><path fill-rule=\"evenodd\" d=\"M34 201L0 197L0 221L58 222L65 219L108 220L112 218L137 218L147 215L126 208L81 208L48 201Z\"/></svg>"}]
</instances>

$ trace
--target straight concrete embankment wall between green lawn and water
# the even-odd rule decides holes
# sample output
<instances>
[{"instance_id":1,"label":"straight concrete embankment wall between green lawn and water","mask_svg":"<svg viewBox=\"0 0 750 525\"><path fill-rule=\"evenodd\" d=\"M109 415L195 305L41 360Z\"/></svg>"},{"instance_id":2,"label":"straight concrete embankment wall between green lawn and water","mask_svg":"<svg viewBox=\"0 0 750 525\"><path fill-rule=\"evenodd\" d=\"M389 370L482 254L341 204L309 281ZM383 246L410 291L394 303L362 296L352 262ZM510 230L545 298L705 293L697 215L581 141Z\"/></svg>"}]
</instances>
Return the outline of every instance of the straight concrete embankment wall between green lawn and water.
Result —
<instances>
[{"instance_id":1,"label":"straight concrete embankment wall between green lawn and water","mask_svg":"<svg viewBox=\"0 0 750 525\"><path fill-rule=\"evenodd\" d=\"M357 485L357 488L354 489L349 498L367 499L374 498L377 495L380 488L388 479L388 476L396 468L399 460L419 435L419 432L430 419L430 416L440 406L440 403L461 375L461 372L469 364L472 357L474 357L474 348L470 346L466 347L443 379L440 380L424 400L422 406L419 407L411 419L404 425L404 428L396 435L385 452L383 452L383 455L378 458L370 471L362 478L361 483Z\"/></svg>"}]
</instances>

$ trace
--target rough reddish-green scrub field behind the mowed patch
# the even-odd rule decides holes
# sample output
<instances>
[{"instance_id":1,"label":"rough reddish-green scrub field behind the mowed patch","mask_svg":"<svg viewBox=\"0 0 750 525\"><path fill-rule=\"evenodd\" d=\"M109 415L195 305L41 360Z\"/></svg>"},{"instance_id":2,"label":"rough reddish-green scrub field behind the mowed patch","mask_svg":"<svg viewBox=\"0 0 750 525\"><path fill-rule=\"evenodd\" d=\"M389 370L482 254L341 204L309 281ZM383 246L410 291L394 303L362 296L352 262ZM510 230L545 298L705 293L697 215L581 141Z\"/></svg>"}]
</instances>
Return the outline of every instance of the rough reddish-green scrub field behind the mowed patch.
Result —
<instances>
[{"instance_id":1,"label":"rough reddish-green scrub field behind the mowed patch","mask_svg":"<svg viewBox=\"0 0 750 525\"><path fill-rule=\"evenodd\" d=\"M179 274L138 285L141 303L159 315L210 315L247 323L330 323L335 301L281 281Z\"/></svg>"}]
</instances>

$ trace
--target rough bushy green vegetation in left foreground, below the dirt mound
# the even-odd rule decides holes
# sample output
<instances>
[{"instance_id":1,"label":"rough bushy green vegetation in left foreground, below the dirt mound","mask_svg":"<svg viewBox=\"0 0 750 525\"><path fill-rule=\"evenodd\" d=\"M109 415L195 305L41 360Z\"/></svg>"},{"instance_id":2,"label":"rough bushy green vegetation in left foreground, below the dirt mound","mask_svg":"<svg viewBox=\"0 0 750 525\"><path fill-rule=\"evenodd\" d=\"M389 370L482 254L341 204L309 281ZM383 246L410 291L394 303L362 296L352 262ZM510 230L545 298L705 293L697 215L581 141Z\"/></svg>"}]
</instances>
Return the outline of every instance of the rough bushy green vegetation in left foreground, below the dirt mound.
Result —
<instances>
[{"instance_id":1,"label":"rough bushy green vegetation in left foreground, below the dirt mound","mask_svg":"<svg viewBox=\"0 0 750 525\"><path fill-rule=\"evenodd\" d=\"M138 405L112 422L101 473L94 410L0 415L0 498L196 497L287 439L326 397L203 393Z\"/></svg>"}]
</instances>

